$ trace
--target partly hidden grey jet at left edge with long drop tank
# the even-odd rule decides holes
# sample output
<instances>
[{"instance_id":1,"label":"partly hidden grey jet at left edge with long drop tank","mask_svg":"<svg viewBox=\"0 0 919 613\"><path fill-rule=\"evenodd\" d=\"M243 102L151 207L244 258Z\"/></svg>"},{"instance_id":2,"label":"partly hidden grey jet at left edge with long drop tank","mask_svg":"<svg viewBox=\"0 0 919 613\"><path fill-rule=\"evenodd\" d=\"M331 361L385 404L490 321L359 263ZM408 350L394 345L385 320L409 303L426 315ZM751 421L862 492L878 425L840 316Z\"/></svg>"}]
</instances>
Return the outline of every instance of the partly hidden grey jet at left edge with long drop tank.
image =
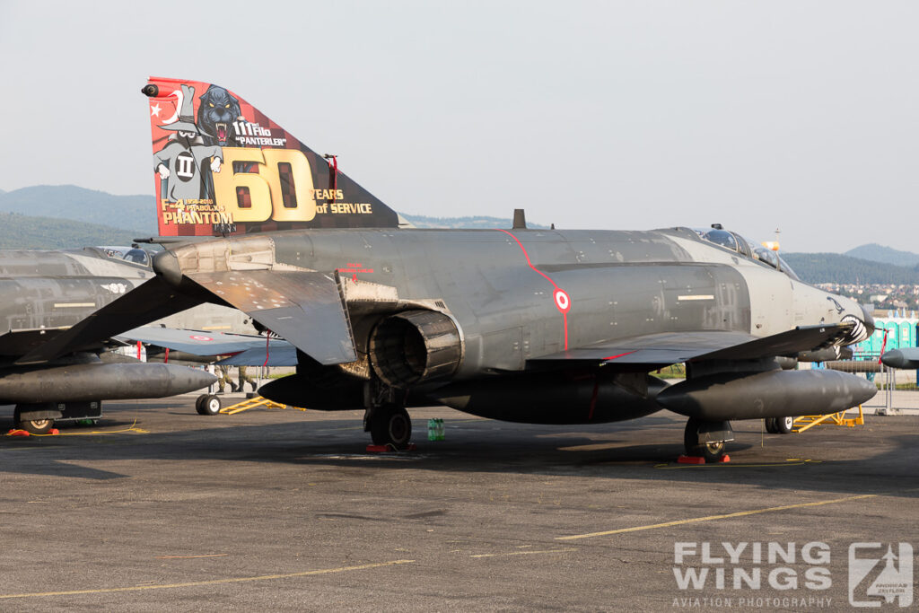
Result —
<instances>
[{"instance_id":1,"label":"partly hidden grey jet at left edge with long drop tank","mask_svg":"<svg viewBox=\"0 0 919 613\"><path fill-rule=\"evenodd\" d=\"M206 387L214 377L171 364L101 359L102 343L41 365L15 361L86 315L153 278L142 249L0 251L0 404L33 434L55 421L96 418L101 401L155 398Z\"/></svg>"}]
</instances>

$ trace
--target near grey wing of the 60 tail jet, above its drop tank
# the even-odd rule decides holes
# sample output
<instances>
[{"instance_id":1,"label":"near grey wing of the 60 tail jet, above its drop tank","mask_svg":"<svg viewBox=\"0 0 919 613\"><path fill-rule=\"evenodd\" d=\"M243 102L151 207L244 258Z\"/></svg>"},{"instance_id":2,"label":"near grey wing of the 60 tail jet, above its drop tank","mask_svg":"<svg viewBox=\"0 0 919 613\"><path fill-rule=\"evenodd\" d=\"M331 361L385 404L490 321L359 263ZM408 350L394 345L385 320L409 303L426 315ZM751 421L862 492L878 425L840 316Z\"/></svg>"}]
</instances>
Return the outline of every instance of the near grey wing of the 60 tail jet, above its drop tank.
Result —
<instances>
[{"instance_id":1,"label":"near grey wing of the 60 tail jet, above its drop tank","mask_svg":"<svg viewBox=\"0 0 919 613\"><path fill-rule=\"evenodd\" d=\"M809 325L762 337L719 330L640 335L576 347L530 361L669 365L703 359L775 358L833 344L850 328L849 324Z\"/></svg>"}]
</instances>

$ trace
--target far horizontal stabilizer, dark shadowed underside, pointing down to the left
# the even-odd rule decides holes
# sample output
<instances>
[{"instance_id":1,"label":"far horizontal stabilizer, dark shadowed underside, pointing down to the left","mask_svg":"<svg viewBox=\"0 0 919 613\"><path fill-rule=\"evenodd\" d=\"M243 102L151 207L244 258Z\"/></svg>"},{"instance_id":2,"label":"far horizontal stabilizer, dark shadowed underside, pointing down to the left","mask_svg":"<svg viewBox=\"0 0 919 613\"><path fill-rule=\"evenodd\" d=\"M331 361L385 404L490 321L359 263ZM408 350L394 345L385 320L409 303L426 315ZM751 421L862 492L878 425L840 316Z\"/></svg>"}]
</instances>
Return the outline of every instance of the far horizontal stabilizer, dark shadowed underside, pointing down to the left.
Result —
<instances>
[{"instance_id":1,"label":"far horizontal stabilizer, dark shadowed underside, pointing down to the left","mask_svg":"<svg viewBox=\"0 0 919 613\"><path fill-rule=\"evenodd\" d=\"M179 293L162 278L154 277L28 352L17 360L17 364L37 364L100 346L103 340L125 330L150 324L198 304L199 300Z\"/></svg>"}]
</instances>

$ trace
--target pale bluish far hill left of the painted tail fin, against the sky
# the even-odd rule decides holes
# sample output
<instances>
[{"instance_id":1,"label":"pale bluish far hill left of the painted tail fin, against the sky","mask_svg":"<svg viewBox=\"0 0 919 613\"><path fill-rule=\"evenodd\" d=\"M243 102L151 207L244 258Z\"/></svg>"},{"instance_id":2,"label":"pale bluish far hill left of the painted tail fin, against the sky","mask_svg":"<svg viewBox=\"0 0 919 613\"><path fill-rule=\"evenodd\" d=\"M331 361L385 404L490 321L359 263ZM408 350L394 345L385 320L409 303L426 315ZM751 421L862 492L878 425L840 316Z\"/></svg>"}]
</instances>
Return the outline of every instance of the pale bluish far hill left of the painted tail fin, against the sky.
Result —
<instances>
[{"instance_id":1,"label":"pale bluish far hill left of the painted tail fin, against the sky","mask_svg":"<svg viewBox=\"0 0 919 613\"><path fill-rule=\"evenodd\" d=\"M73 185L23 187L0 193L0 211L107 225L136 236L156 233L153 196L114 196Z\"/></svg>"}]
</instances>

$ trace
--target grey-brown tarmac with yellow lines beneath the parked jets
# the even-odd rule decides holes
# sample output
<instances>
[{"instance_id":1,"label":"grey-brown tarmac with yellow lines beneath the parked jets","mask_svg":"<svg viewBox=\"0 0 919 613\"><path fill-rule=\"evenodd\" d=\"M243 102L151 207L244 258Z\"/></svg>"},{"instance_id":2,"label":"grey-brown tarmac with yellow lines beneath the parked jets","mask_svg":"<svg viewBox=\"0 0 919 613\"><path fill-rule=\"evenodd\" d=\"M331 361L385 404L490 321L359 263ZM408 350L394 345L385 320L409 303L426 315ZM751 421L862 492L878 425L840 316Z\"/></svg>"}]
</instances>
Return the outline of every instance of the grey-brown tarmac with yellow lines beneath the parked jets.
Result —
<instances>
[{"instance_id":1,"label":"grey-brown tarmac with yellow lines beneath the parked jets","mask_svg":"<svg viewBox=\"0 0 919 613\"><path fill-rule=\"evenodd\" d=\"M694 466L666 412L523 426L419 409L417 449L381 455L362 412L194 400L0 437L0 610L836 611L879 602L885 568L919 569L916 416L736 422L732 461ZM857 542L875 543L851 554L867 564ZM905 555L885 567L889 544Z\"/></svg>"}]
</instances>

